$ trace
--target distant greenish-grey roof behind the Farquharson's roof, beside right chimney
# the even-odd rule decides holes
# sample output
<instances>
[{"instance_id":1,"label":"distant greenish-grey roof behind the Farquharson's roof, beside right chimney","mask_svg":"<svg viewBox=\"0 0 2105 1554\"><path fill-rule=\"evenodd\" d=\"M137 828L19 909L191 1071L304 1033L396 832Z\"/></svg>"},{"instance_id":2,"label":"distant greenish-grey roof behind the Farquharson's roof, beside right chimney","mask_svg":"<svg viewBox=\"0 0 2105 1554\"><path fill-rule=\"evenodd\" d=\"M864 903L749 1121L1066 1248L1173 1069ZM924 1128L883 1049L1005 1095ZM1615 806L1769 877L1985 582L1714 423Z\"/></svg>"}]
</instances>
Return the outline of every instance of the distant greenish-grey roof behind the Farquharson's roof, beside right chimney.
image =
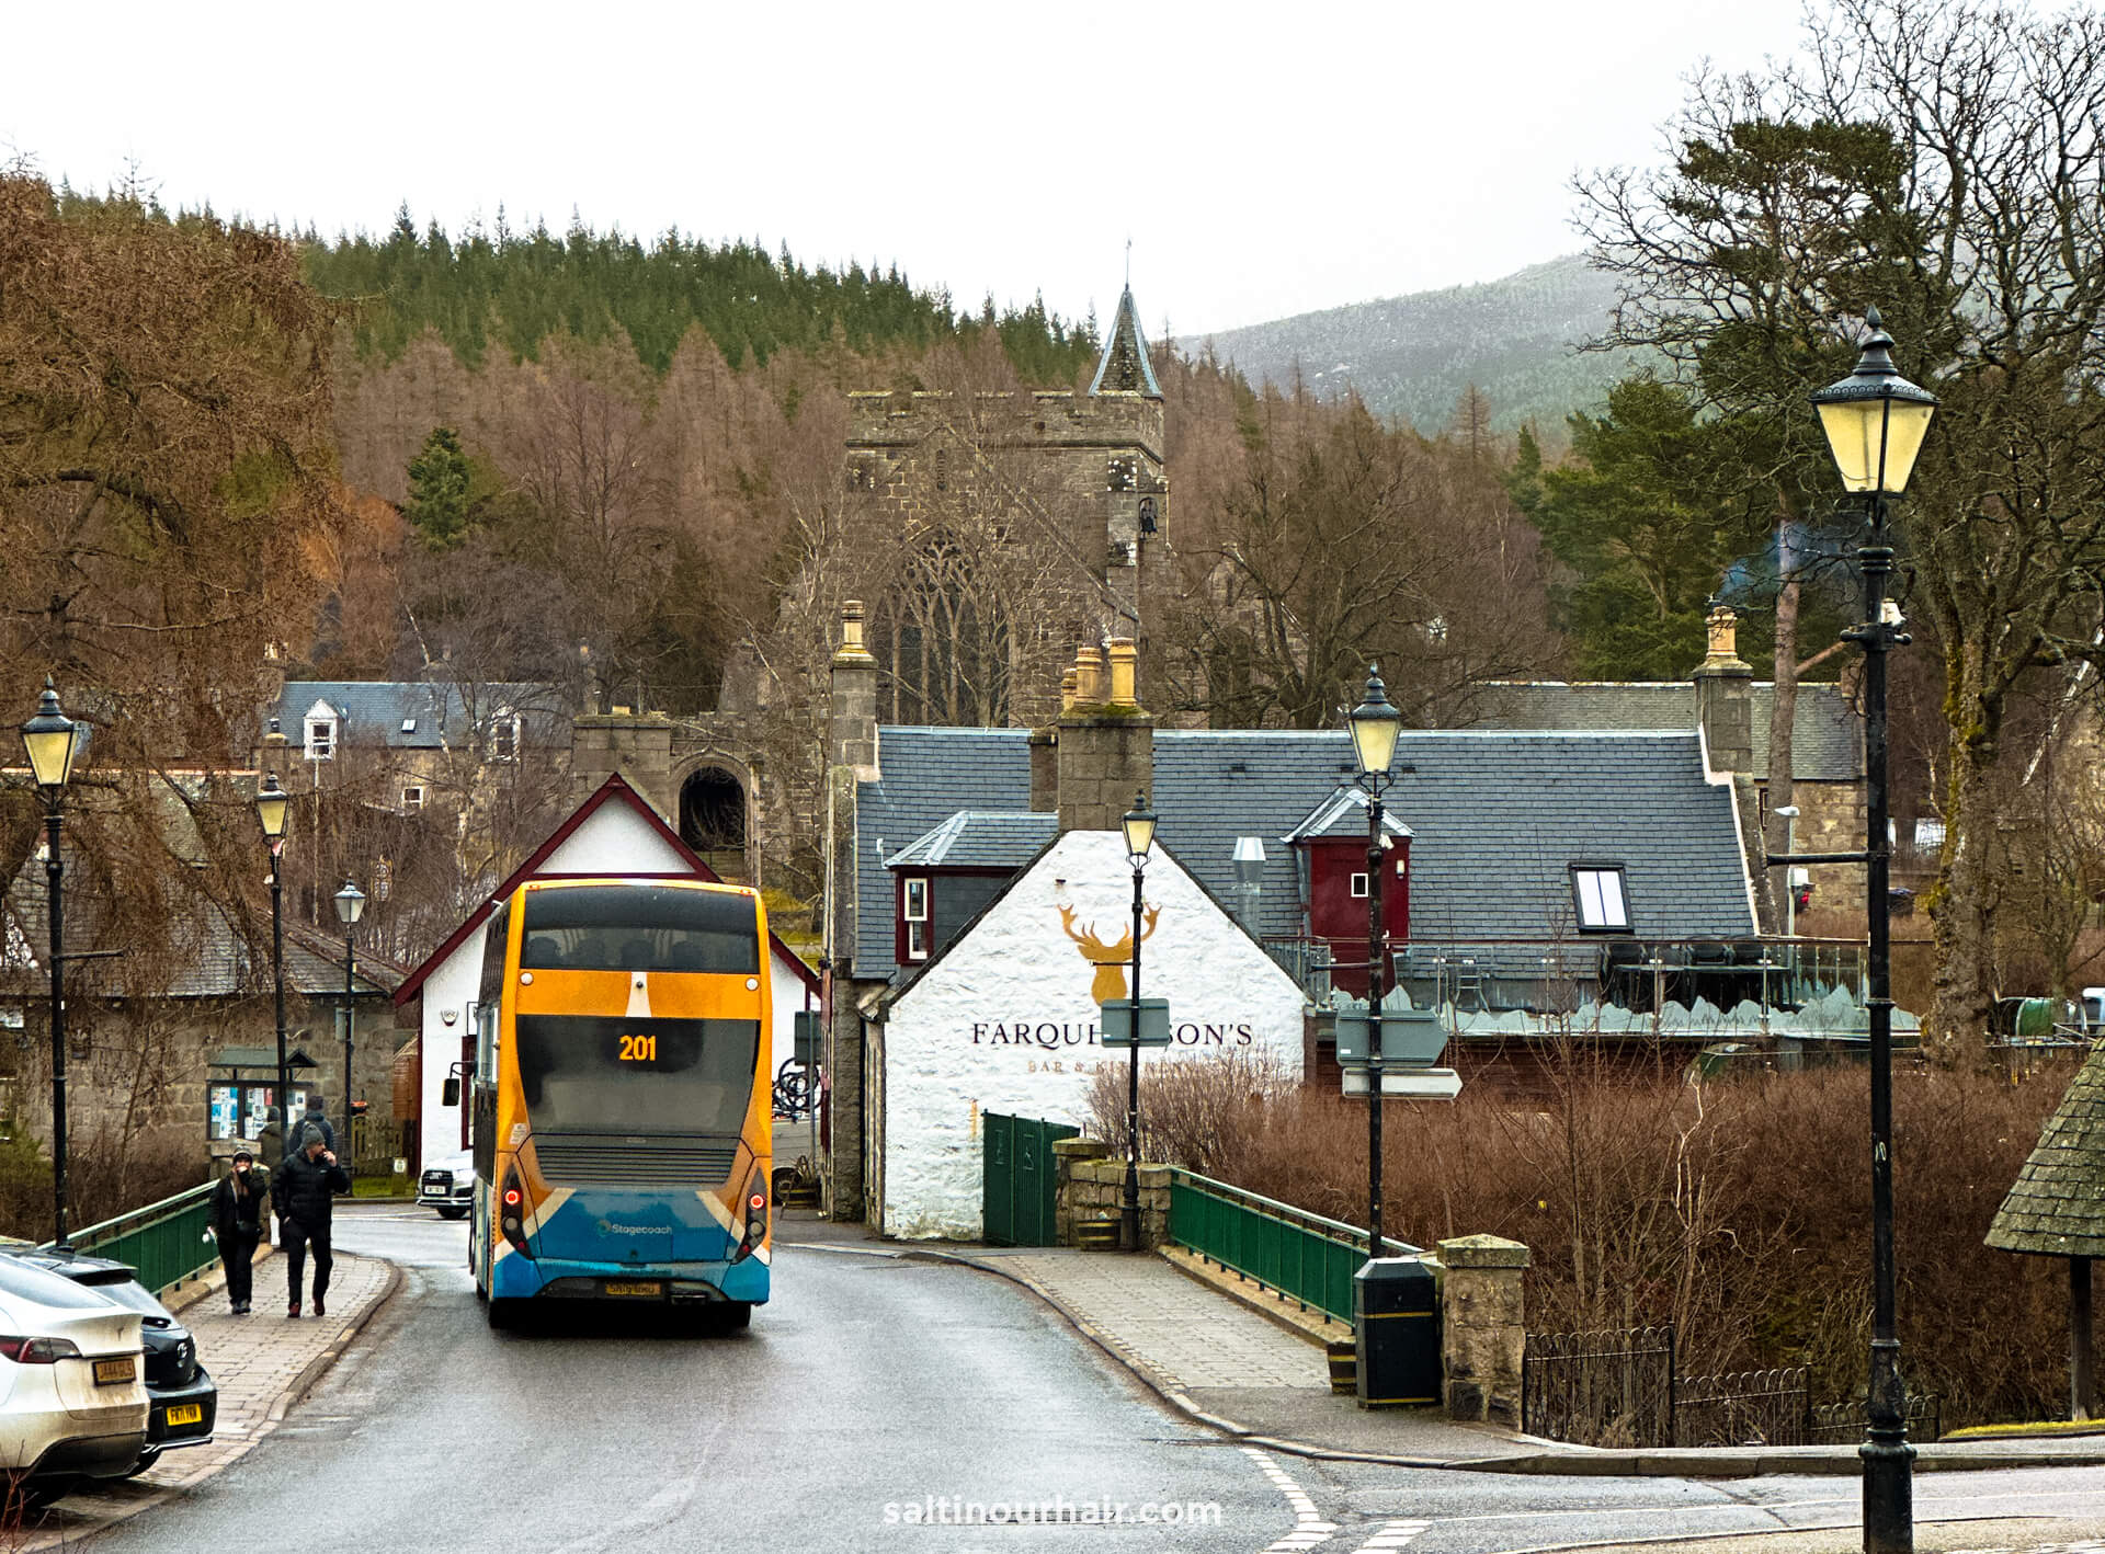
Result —
<instances>
[{"instance_id":1,"label":"distant greenish-grey roof behind the Farquharson's roof, beside right chimney","mask_svg":"<svg viewBox=\"0 0 2105 1554\"><path fill-rule=\"evenodd\" d=\"M1775 681L1753 681L1747 698L1753 776L1764 780L1775 700ZM1690 730L1697 725L1697 690L1686 679L1492 681L1471 692L1469 713L1476 728ZM1840 686L1798 688L1791 770L1800 782L1855 782L1863 776L1863 721Z\"/></svg>"}]
</instances>

